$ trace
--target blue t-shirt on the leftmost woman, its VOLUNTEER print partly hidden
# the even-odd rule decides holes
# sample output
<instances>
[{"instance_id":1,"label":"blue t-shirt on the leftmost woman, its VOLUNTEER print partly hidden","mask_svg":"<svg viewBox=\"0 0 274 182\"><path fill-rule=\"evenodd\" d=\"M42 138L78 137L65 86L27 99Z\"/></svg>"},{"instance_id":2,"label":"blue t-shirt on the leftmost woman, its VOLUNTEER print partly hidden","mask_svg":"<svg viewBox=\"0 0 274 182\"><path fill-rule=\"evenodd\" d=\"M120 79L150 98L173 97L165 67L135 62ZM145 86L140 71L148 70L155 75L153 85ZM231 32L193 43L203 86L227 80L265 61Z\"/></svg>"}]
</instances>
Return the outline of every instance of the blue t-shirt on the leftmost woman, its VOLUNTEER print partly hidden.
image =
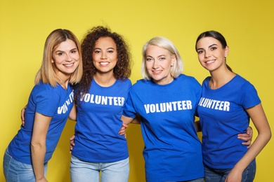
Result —
<instances>
[{"instance_id":1,"label":"blue t-shirt on the leftmost woman, its VOLUNTEER print partly hidden","mask_svg":"<svg viewBox=\"0 0 274 182\"><path fill-rule=\"evenodd\" d=\"M49 84L39 83L30 93L25 111L25 125L21 126L8 145L8 152L19 162L32 165L30 143L35 113L51 116L51 123L46 134L46 155L44 162L48 162L56 149L60 135L73 106L73 90L69 84L67 90L60 85L51 87Z\"/></svg>"}]
</instances>

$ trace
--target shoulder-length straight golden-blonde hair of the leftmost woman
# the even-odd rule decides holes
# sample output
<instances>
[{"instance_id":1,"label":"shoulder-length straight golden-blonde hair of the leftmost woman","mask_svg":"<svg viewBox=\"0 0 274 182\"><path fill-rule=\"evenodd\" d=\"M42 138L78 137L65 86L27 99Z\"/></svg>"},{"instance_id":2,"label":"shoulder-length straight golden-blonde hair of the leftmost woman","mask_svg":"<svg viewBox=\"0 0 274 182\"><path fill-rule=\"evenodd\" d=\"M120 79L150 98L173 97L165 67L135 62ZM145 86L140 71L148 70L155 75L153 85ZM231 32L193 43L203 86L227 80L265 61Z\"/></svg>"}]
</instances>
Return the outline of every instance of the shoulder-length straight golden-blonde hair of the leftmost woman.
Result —
<instances>
[{"instance_id":1,"label":"shoulder-length straight golden-blonde hair of the leftmost woman","mask_svg":"<svg viewBox=\"0 0 274 182\"><path fill-rule=\"evenodd\" d=\"M81 60L81 46L77 37L72 33L72 31L67 29L56 29L51 32L46 38L44 45L44 56L41 68L35 76L35 85L38 85L40 81L43 83L48 83L52 87L56 87L60 79L56 75L58 69L55 64L52 64L51 60L53 57L53 50L60 45L60 43L70 39L74 41L79 52L79 66L70 76L69 82L72 84L79 83L81 76L83 75L83 63Z\"/></svg>"}]
</instances>

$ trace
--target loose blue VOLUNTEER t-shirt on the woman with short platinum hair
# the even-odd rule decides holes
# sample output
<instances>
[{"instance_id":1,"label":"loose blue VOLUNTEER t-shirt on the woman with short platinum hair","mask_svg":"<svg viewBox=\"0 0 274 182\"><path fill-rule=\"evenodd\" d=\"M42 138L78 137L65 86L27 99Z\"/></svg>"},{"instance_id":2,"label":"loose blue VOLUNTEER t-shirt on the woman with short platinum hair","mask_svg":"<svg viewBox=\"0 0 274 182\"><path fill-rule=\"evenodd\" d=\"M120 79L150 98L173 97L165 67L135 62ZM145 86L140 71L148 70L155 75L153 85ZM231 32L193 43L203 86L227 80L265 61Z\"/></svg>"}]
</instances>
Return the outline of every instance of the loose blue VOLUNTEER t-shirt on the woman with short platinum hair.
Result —
<instances>
[{"instance_id":1,"label":"loose blue VOLUNTEER t-shirt on the woman with short platinum hair","mask_svg":"<svg viewBox=\"0 0 274 182\"><path fill-rule=\"evenodd\" d=\"M195 130L201 86L181 74L167 85L138 80L123 115L141 116L146 181L188 181L204 177L202 146Z\"/></svg>"}]
</instances>

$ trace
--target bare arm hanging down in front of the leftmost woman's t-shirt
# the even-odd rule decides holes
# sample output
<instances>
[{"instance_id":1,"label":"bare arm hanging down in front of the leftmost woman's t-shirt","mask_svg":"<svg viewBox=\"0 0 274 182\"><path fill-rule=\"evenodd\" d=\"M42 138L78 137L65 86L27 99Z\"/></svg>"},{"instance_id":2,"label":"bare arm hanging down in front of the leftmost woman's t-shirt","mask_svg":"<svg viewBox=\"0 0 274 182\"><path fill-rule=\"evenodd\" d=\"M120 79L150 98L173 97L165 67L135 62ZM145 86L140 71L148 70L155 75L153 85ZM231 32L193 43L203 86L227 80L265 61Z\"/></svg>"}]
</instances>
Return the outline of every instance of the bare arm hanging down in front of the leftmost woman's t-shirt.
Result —
<instances>
[{"instance_id":1,"label":"bare arm hanging down in front of the leftmost woman's t-shirt","mask_svg":"<svg viewBox=\"0 0 274 182\"><path fill-rule=\"evenodd\" d=\"M35 113L31 143L35 181L46 181L44 176L44 158L46 155L46 134L50 123L51 117Z\"/></svg>"}]
</instances>

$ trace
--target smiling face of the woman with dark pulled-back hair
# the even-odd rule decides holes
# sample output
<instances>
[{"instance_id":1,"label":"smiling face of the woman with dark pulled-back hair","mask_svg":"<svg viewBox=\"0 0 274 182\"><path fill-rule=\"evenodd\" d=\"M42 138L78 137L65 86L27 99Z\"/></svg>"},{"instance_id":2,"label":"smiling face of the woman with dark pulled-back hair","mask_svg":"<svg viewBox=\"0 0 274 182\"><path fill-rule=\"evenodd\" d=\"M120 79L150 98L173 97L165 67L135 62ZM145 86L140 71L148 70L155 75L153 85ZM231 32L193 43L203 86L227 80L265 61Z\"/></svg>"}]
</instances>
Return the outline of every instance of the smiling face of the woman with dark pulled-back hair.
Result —
<instances>
[{"instance_id":1,"label":"smiling face of the woman with dark pulled-back hair","mask_svg":"<svg viewBox=\"0 0 274 182\"><path fill-rule=\"evenodd\" d=\"M223 48L221 42L213 37L203 37L196 45L200 64L209 71L226 67L229 48Z\"/></svg>"}]
</instances>

